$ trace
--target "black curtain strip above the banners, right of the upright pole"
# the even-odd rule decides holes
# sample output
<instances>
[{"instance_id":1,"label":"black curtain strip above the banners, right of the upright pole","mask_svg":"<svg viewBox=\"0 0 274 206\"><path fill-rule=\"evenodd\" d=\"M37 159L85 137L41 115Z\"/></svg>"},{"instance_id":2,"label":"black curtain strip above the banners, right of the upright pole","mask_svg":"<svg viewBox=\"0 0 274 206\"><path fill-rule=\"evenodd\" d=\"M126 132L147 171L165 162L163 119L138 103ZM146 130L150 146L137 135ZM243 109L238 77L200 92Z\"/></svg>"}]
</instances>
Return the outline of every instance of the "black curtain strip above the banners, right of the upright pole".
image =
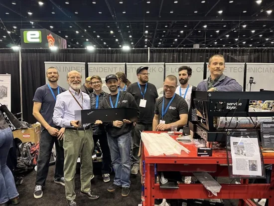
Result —
<instances>
[{"instance_id":1,"label":"black curtain strip above the banners, right of the upright pole","mask_svg":"<svg viewBox=\"0 0 274 206\"><path fill-rule=\"evenodd\" d=\"M150 48L149 62L208 62L213 54L226 62L274 62L274 48Z\"/></svg>"}]
</instances>

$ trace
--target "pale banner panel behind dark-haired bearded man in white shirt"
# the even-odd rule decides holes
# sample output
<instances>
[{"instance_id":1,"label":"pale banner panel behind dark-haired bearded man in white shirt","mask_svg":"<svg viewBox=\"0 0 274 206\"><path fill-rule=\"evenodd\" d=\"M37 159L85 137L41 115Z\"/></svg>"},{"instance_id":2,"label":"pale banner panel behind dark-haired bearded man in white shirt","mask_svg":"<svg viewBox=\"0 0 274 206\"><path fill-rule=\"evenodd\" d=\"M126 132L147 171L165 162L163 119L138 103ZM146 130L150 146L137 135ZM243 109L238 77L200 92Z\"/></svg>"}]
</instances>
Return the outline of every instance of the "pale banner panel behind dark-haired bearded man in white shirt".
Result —
<instances>
[{"instance_id":1,"label":"pale banner panel behind dark-haired bearded man in white shirt","mask_svg":"<svg viewBox=\"0 0 274 206\"><path fill-rule=\"evenodd\" d=\"M179 72L178 69L181 66L189 66L192 69L192 75L189 79L189 84L193 86L197 86L199 82L203 80L203 71L204 71L204 63L165 63L165 76L173 74L178 78L179 82Z\"/></svg>"}]
</instances>

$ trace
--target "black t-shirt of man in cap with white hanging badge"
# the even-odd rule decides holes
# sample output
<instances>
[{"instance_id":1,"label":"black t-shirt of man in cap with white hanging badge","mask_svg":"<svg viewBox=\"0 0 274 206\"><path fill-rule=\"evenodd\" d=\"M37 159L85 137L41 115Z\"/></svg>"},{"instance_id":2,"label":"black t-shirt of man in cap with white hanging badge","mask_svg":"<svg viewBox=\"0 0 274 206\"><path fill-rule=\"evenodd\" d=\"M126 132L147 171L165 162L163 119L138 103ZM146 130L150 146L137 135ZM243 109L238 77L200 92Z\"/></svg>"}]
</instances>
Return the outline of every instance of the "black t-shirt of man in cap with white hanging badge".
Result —
<instances>
[{"instance_id":1,"label":"black t-shirt of man in cap with white hanging badge","mask_svg":"<svg viewBox=\"0 0 274 206\"><path fill-rule=\"evenodd\" d=\"M140 84L140 87L141 87L142 93L144 93L145 85ZM135 83L131 84L127 88L127 92L131 93L134 96L135 101L139 107L140 100L143 99L143 96L141 95L138 83L135 82ZM145 105L145 107L139 107L140 117L138 119L138 123L144 123L144 124L152 123L152 120L154 117L154 107L155 107L157 98L158 98L158 93L157 93L156 87L154 86L154 84L147 82L147 88L146 88L146 92L144 94L144 99L146 100L146 105Z\"/></svg>"}]
</instances>

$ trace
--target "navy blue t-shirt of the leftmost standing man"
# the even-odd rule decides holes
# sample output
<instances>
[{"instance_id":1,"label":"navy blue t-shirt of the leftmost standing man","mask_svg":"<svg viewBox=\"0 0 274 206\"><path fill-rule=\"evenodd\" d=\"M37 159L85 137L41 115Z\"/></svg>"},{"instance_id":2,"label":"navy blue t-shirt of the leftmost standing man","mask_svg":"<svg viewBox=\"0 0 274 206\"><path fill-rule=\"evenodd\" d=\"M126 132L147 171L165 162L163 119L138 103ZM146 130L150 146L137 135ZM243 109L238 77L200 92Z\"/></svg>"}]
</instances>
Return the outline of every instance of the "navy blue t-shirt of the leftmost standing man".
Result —
<instances>
[{"instance_id":1,"label":"navy blue t-shirt of the leftmost standing man","mask_svg":"<svg viewBox=\"0 0 274 206\"><path fill-rule=\"evenodd\" d=\"M59 93L66 91L63 87L59 87ZM55 97L58 95L58 88L51 88ZM52 117L54 112L54 106L55 106L55 99L48 87L47 84L39 87L36 89L33 102L40 102L42 103L40 113L44 120L51 126L56 127L56 125L53 123Z\"/></svg>"}]
</instances>

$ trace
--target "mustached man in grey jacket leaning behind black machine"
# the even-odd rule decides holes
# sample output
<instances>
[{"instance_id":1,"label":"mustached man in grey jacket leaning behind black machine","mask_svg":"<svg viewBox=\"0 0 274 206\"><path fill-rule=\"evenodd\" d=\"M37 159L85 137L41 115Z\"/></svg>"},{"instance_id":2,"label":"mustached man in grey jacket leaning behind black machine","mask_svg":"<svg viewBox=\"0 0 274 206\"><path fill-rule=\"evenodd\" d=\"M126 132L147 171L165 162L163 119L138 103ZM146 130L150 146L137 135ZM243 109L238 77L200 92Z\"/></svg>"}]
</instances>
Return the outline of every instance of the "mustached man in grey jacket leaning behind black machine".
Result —
<instances>
[{"instance_id":1,"label":"mustached man in grey jacket leaning behind black machine","mask_svg":"<svg viewBox=\"0 0 274 206\"><path fill-rule=\"evenodd\" d=\"M223 74L225 58L221 54L214 54L209 59L210 76L197 86L200 91L241 92L243 87L235 80Z\"/></svg>"}]
</instances>

